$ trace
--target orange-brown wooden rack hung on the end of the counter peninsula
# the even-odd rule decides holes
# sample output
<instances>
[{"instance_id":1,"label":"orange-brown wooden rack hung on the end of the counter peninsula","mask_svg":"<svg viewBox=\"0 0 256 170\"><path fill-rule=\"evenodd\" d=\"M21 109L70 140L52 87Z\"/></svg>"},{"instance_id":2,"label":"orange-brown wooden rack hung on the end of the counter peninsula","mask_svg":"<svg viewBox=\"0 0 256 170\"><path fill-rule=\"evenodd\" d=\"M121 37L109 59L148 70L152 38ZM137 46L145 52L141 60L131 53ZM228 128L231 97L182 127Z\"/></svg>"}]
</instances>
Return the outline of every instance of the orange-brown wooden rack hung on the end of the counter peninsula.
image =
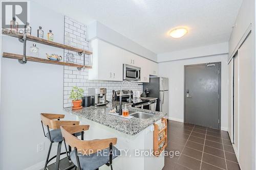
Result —
<instances>
[{"instance_id":1,"label":"orange-brown wooden rack hung on the end of the counter peninsula","mask_svg":"<svg viewBox=\"0 0 256 170\"><path fill-rule=\"evenodd\" d=\"M161 152L164 150L165 147L167 147L167 119L162 118L162 121L165 122L165 127L161 129L160 131L158 130L158 125L155 123L154 124L154 132L153 132L153 151L155 156L159 156ZM165 132L165 135L161 140L158 140L158 137L161 133ZM159 145L165 142L163 147L159 149Z\"/></svg>"}]
</instances>

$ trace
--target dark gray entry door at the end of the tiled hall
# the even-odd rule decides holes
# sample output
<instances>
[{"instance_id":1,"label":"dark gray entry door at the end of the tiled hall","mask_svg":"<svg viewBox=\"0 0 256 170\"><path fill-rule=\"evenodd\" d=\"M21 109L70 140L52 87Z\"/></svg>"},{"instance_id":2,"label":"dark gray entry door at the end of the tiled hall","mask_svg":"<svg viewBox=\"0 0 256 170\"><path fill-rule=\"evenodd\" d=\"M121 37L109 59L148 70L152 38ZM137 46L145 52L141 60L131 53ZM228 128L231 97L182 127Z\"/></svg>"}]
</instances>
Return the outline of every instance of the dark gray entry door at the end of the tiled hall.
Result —
<instances>
[{"instance_id":1,"label":"dark gray entry door at the end of the tiled hall","mask_svg":"<svg viewBox=\"0 0 256 170\"><path fill-rule=\"evenodd\" d=\"M220 129L220 98L220 62L185 66L185 123Z\"/></svg>"}]
</instances>

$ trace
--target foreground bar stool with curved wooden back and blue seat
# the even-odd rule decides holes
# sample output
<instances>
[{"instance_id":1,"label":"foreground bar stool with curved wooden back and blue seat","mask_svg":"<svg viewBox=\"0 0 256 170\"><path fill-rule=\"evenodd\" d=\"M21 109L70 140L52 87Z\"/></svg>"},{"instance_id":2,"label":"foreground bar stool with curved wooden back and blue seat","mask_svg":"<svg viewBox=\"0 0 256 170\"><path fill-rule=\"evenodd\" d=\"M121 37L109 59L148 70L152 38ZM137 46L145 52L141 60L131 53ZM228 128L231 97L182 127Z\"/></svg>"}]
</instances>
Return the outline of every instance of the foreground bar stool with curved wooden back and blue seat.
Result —
<instances>
[{"instance_id":1,"label":"foreground bar stool with curved wooden back and blue seat","mask_svg":"<svg viewBox=\"0 0 256 170\"><path fill-rule=\"evenodd\" d=\"M117 138L80 140L72 135L82 132L83 136L83 131L89 130L89 125L61 126L60 129L65 144L74 148L70 158L79 170L94 170L104 164L113 169L112 160L120 155L120 151L114 147Z\"/></svg>"}]
</instances>

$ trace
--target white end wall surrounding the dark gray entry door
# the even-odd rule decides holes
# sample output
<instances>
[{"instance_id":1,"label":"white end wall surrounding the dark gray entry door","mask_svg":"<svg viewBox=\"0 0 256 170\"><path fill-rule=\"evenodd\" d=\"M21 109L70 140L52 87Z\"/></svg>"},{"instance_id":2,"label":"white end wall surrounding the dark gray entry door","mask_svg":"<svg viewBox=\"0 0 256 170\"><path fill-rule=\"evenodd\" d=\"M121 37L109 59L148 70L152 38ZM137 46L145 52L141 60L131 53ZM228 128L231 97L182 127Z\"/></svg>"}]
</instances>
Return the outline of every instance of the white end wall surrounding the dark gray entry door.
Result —
<instances>
[{"instance_id":1,"label":"white end wall surrounding the dark gray entry door","mask_svg":"<svg viewBox=\"0 0 256 170\"><path fill-rule=\"evenodd\" d=\"M169 119L180 122L184 120L184 65L208 62L221 62L221 128L226 130L228 125L227 54L159 63L159 75L169 78Z\"/></svg>"}]
</instances>

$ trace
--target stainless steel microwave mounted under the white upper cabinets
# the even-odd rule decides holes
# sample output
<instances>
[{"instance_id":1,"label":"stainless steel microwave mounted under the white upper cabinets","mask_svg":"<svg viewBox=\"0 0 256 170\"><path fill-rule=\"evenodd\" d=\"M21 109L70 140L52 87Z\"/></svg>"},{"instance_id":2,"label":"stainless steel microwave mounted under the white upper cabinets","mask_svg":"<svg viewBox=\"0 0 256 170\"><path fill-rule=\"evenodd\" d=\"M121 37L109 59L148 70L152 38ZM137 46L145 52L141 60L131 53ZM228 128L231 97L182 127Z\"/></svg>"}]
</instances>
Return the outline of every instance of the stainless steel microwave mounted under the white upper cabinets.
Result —
<instances>
[{"instance_id":1,"label":"stainless steel microwave mounted under the white upper cabinets","mask_svg":"<svg viewBox=\"0 0 256 170\"><path fill-rule=\"evenodd\" d=\"M123 80L140 81L140 67L123 64Z\"/></svg>"}]
</instances>

